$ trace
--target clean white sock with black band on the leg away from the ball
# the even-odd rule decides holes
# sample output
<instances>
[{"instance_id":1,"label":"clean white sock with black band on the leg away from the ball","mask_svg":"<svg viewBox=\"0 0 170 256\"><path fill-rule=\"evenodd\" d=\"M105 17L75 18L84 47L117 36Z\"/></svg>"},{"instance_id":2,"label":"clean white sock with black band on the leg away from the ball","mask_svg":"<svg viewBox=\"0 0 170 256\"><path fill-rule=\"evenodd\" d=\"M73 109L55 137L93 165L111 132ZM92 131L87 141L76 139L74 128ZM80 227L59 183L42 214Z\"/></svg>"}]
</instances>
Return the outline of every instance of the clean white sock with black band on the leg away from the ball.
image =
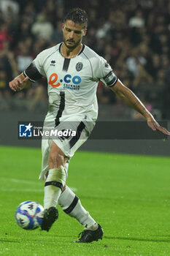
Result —
<instances>
[{"instance_id":1,"label":"clean white sock with black band on the leg away from the ball","mask_svg":"<svg viewBox=\"0 0 170 256\"><path fill-rule=\"evenodd\" d=\"M79 198L69 187L66 186L66 189L58 199L58 204L66 214L77 219L86 229L96 230L98 228L96 221L82 207Z\"/></svg>"}]
</instances>

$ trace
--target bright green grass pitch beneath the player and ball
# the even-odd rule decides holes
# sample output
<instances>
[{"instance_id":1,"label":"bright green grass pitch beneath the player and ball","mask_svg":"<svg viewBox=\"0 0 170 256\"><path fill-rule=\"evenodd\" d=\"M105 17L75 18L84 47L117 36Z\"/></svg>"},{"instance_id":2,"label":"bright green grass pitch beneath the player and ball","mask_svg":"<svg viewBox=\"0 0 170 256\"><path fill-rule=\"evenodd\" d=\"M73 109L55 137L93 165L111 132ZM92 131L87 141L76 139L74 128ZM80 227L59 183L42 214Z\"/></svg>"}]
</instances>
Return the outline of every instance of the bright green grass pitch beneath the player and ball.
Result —
<instances>
[{"instance_id":1,"label":"bright green grass pitch beneath the player and ball","mask_svg":"<svg viewBox=\"0 0 170 256\"><path fill-rule=\"evenodd\" d=\"M82 226L59 209L50 232L22 230L15 209L43 204L39 148L0 147L0 255L169 256L170 158L78 151L68 185L104 228L92 244L73 241Z\"/></svg>"}]
</instances>

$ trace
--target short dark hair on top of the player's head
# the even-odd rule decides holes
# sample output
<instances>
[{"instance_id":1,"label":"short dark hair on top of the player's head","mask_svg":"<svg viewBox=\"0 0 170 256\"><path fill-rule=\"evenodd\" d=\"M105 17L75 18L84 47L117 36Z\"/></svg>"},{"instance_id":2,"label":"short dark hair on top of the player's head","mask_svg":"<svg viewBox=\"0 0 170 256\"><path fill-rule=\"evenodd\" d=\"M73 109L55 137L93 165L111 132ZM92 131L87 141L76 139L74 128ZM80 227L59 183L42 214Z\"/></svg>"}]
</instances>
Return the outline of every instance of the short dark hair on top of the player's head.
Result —
<instances>
[{"instance_id":1,"label":"short dark hair on top of the player's head","mask_svg":"<svg viewBox=\"0 0 170 256\"><path fill-rule=\"evenodd\" d=\"M72 20L74 23L84 24L85 29L87 29L88 27L88 15L85 10L82 10L80 8L73 8L69 10L65 18L63 19L63 23L65 23L66 20Z\"/></svg>"}]
</instances>

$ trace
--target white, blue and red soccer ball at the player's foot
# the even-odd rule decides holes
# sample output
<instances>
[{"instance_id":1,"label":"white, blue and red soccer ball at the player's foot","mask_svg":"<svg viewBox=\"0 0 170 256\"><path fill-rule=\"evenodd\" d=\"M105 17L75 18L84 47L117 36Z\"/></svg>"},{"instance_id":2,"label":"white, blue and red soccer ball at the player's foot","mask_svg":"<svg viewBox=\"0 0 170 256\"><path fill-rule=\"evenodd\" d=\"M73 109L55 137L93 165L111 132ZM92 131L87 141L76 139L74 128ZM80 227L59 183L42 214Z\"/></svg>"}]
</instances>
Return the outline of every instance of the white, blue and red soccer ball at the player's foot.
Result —
<instances>
[{"instance_id":1,"label":"white, blue and red soccer ball at the player's foot","mask_svg":"<svg viewBox=\"0 0 170 256\"><path fill-rule=\"evenodd\" d=\"M34 201L20 203L15 211L15 219L25 230L34 230L42 225L44 208Z\"/></svg>"}]
</instances>

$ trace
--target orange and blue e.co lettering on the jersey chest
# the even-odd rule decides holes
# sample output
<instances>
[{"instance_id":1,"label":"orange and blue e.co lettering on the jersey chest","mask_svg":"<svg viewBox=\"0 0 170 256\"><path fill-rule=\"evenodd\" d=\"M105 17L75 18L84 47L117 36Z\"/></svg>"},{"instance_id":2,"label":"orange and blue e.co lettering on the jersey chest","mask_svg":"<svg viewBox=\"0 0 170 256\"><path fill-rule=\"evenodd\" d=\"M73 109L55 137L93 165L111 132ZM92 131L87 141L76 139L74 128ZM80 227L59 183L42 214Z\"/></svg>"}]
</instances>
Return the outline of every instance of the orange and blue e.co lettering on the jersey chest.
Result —
<instances>
[{"instance_id":1,"label":"orange and blue e.co lettering on the jersey chest","mask_svg":"<svg viewBox=\"0 0 170 256\"><path fill-rule=\"evenodd\" d=\"M61 83L63 82L64 86L70 83L72 83L72 86L75 86L80 84L81 81L82 78L80 78L79 75L74 75L74 77L72 77L72 75L69 74L64 75L63 79L58 80L58 75L56 73L53 73L52 75L50 75L48 83L50 84L50 86L53 86L53 88L57 88L58 86L61 86Z\"/></svg>"}]
</instances>

